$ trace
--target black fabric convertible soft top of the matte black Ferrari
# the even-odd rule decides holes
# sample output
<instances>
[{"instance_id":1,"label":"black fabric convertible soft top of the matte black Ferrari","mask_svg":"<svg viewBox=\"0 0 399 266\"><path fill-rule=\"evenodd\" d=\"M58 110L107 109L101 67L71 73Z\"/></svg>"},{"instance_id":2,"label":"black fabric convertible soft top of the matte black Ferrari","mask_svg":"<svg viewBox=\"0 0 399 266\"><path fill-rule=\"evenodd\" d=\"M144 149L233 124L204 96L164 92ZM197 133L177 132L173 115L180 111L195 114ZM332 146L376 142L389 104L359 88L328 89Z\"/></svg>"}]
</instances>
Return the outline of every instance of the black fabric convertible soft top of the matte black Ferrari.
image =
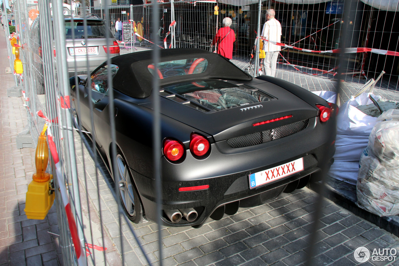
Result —
<instances>
[{"instance_id":1,"label":"black fabric convertible soft top of the matte black Ferrari","mask_svg":"<svg viewBox=\"0 0 399 266\"><path fill-rule=\"evenodd\" d=\"M251 80L252 77L235 66L219 54L196 48L162 49L159 62L184 60L192 58L205 58L207 68L202 73L191 75L176 75L160 79L160 85L170 83L198 80L198 79L237 79ZM153 64L152 50L124 54L111 58L111 64L119 66L113 79L114 88L135 98L150 96L152 79L154 76L148 70L148 65Z\"/></svg>"}]
</instances>

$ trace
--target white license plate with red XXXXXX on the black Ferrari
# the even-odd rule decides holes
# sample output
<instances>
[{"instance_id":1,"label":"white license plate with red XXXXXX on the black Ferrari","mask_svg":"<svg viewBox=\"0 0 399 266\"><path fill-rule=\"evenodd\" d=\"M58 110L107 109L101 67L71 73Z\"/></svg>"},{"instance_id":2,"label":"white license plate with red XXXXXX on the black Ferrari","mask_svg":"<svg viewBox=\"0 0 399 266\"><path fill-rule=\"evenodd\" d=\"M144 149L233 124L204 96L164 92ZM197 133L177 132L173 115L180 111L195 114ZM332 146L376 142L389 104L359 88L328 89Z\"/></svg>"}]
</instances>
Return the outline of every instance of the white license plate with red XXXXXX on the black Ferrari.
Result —
<instances>
[{"instance_id":1,"label":"white license plate with red XXXXXX on the black Ferrari","mask_svg":"<svg viewBox=\"0 0 399 266\"><path fill-rule=\"evenodd\" d=\"M303 170L303 158L249 175L249 188L253 189Z\"/></svg>"}]
</instances>

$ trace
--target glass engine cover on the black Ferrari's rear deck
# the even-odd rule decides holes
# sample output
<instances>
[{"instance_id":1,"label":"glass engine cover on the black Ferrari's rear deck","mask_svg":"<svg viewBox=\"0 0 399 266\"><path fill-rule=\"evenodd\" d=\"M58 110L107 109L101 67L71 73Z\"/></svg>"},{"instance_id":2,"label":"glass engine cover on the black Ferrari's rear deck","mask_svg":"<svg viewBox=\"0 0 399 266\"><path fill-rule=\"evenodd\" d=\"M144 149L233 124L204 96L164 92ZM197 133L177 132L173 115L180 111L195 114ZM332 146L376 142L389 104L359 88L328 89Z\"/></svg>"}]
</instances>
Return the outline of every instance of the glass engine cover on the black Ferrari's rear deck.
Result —
<instances>
[{"instance_id":1,"label":"glass engine cover on the black Ferrari's rear deck","mask_svg":"<svg viewBox=\"0 0 399 266\"><path fill-rule=\"evenodd\" d=\"M273 98L257 89L247 89L222 80L184 82L164 87L214 111L269 101Z\"/></svg>"}]
</instances>

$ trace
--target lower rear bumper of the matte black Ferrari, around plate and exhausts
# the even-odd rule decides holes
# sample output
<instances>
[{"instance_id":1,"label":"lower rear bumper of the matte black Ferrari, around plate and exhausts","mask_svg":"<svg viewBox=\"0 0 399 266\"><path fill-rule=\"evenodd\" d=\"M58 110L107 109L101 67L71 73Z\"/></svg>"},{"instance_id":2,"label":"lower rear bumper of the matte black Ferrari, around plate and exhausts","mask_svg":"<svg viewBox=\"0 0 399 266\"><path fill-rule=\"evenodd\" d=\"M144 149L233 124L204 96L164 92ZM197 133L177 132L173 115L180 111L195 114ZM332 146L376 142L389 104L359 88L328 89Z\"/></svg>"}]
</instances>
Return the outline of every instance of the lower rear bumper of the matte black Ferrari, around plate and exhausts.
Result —
<instances>
[{"instance_id":1,"label":"lower rear bumper of the matte black Ferrari, around plate and exhausts","mask_svg":"<svg viewBox=\"0 0 399 266\"><path fill-rule=\"evenodd\" d=\"M221 177L212 177L207 179L200 179L196 181L168 181L163 177L162 180L162 210L178 210L183 208L194 208L198 212L198 218L194 222L188 222L182 219L178 223L172 223L166 215L163 215L162 222L166 226L195 226L203 225L211 214L220 206L237 202L239 200L247 199L249 197L257 197L263 199L263 195L274 195L272 198L267 198L265 201L260 200L260 204L268 200L272 200L280 195L287 184L297 181L302 177L306 177L312 173L321 172L320 161L316 157L322 157L321 153L325 153L326 158L331 158L334 155L334 146L325 147L324 145L318 147L308 154L301 154L296 157L291 157L281 163L288 163L294 159L303 157L304 170L289 175L283 179L277 179L263 187L249 189L249 173L261 171L260 169L253 169L251 171L244 171L232 175ZM269 169L276 165L265 165L263 170ZM329 167L328 164L326 167ZM146 212L148 220L156 221L156 197L154 197L155 181L148 177L144 177L132 170L134 181L138 187L140 197ZM179 187L190 187L199 185L209 185L209 189L200 191L186 191L180 192ZM268 193L270 192L270 193ZM255 198L254 198L255 199ZM247 200L248 201L248 200ZM250 200L251 201L251 200ZM256 201L256 200L255 200Z\"/></svg>"}]
</instances>

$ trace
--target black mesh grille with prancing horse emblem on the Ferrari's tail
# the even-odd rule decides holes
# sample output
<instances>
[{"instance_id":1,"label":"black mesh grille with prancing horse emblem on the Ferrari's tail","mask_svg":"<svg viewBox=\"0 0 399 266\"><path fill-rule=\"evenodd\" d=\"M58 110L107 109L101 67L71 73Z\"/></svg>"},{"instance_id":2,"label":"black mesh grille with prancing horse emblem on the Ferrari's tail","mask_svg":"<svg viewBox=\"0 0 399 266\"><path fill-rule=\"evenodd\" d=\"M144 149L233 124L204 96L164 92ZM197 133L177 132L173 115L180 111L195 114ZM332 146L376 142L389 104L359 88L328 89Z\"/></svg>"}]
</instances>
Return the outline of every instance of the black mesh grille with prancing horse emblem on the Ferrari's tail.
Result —
<instances>
[{"instance_id":1,"label":"black mesh grille with prancing horse emblem on the Ferrari's tail","mask_svg":"<svg viewBox=\"0 0 399 266\"><path fill-rule=\"evenodd\" d=\"M232 148L249 147L298 133L299 131L304 130L308 124L309 119L305 119L289 125L283 125L281 127L227 139L227 144Z\"/></svg>"}]
</instances>

